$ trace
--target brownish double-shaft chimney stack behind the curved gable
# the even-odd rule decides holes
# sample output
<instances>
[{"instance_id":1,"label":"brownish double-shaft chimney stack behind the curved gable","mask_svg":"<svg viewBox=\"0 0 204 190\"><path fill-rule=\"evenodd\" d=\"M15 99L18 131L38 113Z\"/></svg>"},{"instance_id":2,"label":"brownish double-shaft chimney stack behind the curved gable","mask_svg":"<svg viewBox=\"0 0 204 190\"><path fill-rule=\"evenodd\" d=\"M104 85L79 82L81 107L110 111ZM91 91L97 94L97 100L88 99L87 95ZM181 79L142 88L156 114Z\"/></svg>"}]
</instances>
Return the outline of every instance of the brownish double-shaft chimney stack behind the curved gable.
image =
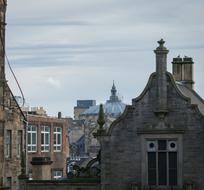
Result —
<instances>
[{"instance_id":1,"label":"brownish double-shaft chimney stack behind the curved gable","mask_svg":"<svg viewBox=\"0 0 204 190\"><path fill-rule=\"evenodd\" d=\"M173 58L172 64L174 79L193 89L193 59L187 56L182 59L178 56Z\"/></svg>"}]
</instances>

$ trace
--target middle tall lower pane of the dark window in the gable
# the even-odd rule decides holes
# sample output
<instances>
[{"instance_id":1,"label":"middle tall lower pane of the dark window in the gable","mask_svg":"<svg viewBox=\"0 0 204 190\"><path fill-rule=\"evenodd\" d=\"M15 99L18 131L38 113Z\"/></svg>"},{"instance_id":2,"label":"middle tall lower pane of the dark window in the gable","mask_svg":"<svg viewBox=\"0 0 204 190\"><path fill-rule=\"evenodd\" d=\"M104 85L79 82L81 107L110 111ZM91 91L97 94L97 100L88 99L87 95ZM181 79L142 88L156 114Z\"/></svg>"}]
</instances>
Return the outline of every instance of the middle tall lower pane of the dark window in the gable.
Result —
<instances>
[{"instance_id":1,"label":"middle tall lower pane of the dark window in the gable","mask_svg":"<svg viewBox=\"0 0 204 190\"><path fill-rule=\"evenodd\" d=\"M158 153L158 178L159 185L167 184L167 153L159 152Z\"/></svg>"}]
</instances>

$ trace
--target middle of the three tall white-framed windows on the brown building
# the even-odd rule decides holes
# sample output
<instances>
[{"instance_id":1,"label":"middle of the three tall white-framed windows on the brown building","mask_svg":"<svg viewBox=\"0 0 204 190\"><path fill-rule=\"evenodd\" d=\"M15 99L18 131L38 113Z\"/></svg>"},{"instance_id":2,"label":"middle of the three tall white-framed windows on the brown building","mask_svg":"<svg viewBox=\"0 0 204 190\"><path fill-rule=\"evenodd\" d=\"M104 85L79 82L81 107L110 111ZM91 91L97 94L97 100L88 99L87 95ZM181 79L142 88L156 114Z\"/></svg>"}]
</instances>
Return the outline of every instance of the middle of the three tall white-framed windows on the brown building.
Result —
<instances>
[{"instance_id":1,"label":"middle of the three tall white-framed windows on the brown building","mask_svg":"<svg viewBox=\"0 0 204 190\"><path fill-rule=\"evenodd\" d=\"M50 150L50 127L41 126L41 151L49 152Z\"/></svg>"}]
</instances>

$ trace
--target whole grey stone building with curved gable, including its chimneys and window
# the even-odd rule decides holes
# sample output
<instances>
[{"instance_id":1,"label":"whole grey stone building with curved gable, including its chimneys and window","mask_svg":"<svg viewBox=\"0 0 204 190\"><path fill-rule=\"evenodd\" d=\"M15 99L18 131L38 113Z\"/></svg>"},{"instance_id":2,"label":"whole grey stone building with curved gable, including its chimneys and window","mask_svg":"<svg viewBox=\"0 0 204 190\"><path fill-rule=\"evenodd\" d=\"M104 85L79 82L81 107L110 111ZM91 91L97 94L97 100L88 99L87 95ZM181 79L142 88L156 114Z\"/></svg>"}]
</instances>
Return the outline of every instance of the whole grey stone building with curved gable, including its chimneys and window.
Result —
<instances>
[{"instance_id":1,"label":"whole grey stone building with curved gable, including its chimneys and window","mask_svg":"<svg viewBox=\"0 0 204 190\"><path fill-rule=\"evenodd\" d=\"M204 189L204 101L193 90L192 58L173 59L160 40L156 72L101 143L101 189Z\"/></svg>"}]
</instances>

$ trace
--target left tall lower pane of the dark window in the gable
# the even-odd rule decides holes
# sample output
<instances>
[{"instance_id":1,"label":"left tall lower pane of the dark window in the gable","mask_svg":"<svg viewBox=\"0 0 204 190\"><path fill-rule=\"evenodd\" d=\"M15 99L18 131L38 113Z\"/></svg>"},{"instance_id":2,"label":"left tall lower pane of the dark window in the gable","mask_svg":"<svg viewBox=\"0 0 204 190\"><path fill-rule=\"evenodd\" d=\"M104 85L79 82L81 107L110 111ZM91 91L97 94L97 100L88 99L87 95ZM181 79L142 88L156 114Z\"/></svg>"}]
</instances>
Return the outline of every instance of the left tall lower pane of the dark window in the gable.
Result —
<instances>
[{"instance_id":1,"label":"left tall lower pane of the dark window in the gable","mask_svg":"<svg viewBox=\"0 0 204 190\"><path fill-rule=\"evenodd\" d=\"M148 153L148 184L156 185L156 153Z\"/></svg>"}]
</instances>

